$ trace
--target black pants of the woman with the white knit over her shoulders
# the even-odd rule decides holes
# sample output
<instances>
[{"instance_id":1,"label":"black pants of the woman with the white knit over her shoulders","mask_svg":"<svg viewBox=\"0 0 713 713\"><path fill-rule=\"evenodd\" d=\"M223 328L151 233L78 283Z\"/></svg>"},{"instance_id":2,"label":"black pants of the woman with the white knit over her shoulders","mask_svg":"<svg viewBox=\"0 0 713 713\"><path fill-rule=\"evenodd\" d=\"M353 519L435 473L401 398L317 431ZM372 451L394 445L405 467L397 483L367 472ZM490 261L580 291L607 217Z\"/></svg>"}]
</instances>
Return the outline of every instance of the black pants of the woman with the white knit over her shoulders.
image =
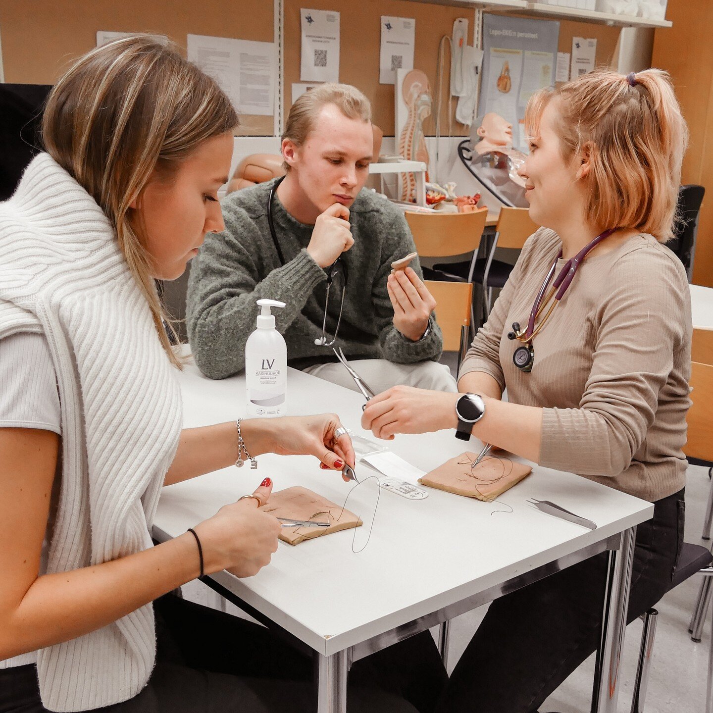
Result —
<instances>
[{"instance_id":1,"label":"black pants of the woman with the white knit over her shoulders","mask_svg":"<svg viewBox=\"0 0 713 713\"><path fill-rule=\"evenodd\" d=\"M156 666L133 699L103 713L312 713L312 657L237 617L173 595L154 602ZM429 632L356 662L350 713L429 713L446 684ZM34 665L0 670L0 713L45 713Z\"/></svg>"}]
</instances>

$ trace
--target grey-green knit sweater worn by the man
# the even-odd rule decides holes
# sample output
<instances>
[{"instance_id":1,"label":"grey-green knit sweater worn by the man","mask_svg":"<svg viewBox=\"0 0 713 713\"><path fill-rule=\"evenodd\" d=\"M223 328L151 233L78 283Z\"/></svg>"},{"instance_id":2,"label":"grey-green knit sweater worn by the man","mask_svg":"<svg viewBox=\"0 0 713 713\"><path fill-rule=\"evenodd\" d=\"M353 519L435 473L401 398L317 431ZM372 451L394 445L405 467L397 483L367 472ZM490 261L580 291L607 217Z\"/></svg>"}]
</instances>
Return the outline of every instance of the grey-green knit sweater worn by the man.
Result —
<instances>
[{"instance_id":1,"label":"grey-green knit sweater worn by the man","mask_svg":"<svg viewBox=\"0 0 713 713\"><path fill-rule=\"evenodd\" d=\"M287 304L273 310L287 342L290 366L335 361L332 349L318 347L322 336L327 272L305 248L312 225L289 215L277 195L272 202L277 240L286 265L280 265L267 222L272 182L231 193L222 202L225 231L209 235L191 265L186 324L196 364L206 376L223 379L245 369L245 342L255 329L257 299ZM389 201L361 190L350 209L354 246L342 255L347 293L337 346L349 359L389 359L399 364L441 356L441 330L431 315L431 333L411 342L396 330L386 292L391 262L415 250L401 211ZM414 264L415 263L415 264ZM419 276L417 261L412 266ZM340 278L329 294L328 334L339 315Z\"/></svg>"}]
</instances>

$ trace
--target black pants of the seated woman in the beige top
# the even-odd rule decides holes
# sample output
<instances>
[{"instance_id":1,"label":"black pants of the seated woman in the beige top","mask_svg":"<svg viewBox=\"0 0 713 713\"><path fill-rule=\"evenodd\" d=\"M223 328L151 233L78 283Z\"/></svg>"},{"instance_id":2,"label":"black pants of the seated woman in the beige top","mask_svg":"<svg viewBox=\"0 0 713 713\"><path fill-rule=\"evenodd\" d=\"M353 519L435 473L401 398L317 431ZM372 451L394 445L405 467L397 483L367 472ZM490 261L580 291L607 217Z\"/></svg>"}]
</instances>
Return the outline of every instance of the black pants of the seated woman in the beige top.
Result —
<instances>
[{"instance_id":1,"label":"black pants of the seated woman in the beige top","mask_svg":"<svg viewBox=\"0 0 713 713\"><path fill-rule=\"evenodd\" d=\"M637 528L627 622L666 593L683 543L684 491ZM607 553L495 600L458 661L438 713L531 713L597 648Z\"/></svg>"}]
</instances>

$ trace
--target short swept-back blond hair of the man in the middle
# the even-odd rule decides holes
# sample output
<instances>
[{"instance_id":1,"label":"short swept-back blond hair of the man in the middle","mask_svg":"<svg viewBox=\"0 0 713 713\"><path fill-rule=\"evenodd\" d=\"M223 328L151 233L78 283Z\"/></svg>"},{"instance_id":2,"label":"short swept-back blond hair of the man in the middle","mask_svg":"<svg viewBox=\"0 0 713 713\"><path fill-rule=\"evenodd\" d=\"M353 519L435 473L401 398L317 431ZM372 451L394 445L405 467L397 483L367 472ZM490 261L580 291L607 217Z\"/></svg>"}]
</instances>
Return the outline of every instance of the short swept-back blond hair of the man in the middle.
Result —
<instances>
[{"instance_id":1,"label":"short swept-back blond hair of the man in the middle","mask_svg":"<svg viewBox=\"0 0 713 713\"><path fill-rule=\"evenodd\" d=\"M327 82L305 92L292 104L282 140L287 138L295 146L301 146L314 128L322 107L327 104L334 104L350 119L371 122L371 103L359 89L351 84ZM287 163L283 165L285 170L289 170Z\"/></svg>"}]
</instances>

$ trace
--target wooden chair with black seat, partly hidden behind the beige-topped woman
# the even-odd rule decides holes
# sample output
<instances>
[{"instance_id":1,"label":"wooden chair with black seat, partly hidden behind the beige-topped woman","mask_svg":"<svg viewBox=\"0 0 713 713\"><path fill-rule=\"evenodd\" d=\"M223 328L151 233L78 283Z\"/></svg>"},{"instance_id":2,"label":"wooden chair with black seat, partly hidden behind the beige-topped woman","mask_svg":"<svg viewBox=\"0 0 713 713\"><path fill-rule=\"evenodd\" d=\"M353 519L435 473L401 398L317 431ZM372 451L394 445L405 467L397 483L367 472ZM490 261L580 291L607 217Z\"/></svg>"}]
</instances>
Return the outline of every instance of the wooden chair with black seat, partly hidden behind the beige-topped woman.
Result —
<instances>
[{"instance_id":1,"label":"wooden chair with black seat, partly hidden behind the beige-topped woman","mask_svg":"<svg viewBox=\"0 0 713 713\"><path fill-rule=\"evenodd\" d=\"M538 230L539 225L530 219L527 208L501 208L496 225L495 240L488 257L480 260L473 257L470 263L456 262L434 265L434 270L445 273L451 277L463 277L468 271L470 282L479 282L483 285L483 307L485 316L490 314L493 288L502 288L510 277L513 265L502 260L495 260L494 255L498 247L510 247L520 250L525 245L525 240Z\"/></svg>"}]
</instances>

